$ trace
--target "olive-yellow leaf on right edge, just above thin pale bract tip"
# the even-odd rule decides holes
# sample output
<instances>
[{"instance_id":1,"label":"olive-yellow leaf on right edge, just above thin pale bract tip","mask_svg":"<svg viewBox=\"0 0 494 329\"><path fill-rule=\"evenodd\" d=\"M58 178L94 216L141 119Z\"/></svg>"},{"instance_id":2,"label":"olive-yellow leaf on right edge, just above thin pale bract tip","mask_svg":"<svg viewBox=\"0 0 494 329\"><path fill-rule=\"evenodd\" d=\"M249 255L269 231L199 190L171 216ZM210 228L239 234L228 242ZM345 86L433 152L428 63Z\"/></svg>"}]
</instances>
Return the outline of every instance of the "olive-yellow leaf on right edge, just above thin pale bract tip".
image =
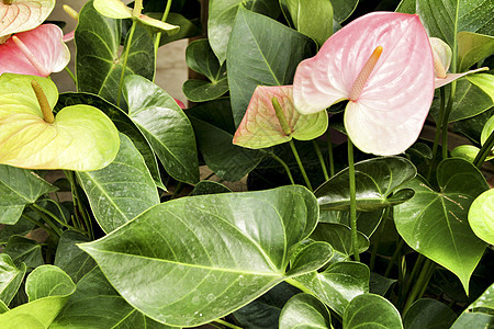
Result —
<instances>
[{"instance_id":1,"label":"olive-yellow leaf on right edge, just above thin pale bract tip","mask_svg":"<svg viewBox=\"0 0 494 329\"><path fill-rule=\"evenodd\" d=\"M467 71L472 65L494 53L494 37L472 32L458 33L458 68Z\"/></svg>"}]
</instances>

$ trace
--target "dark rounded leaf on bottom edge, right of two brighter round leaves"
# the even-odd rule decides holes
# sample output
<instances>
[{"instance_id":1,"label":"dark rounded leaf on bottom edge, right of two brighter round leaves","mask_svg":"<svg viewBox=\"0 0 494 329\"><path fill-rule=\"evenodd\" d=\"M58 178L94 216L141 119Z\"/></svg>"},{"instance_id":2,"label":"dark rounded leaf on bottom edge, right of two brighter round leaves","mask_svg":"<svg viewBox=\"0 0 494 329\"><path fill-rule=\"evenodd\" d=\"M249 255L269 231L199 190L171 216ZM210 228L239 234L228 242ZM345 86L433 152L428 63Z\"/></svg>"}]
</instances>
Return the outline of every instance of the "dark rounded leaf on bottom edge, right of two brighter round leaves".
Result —
<instances>
[{"instance_id":1,"label":"dark rounded leaf on bottom edge, right of two brighter round leaves","mask_svg":"<svg viewBox=\"0 0 494 329\"><path fill-rule=\"evenodd\" d=\"M412 304L403 317L405 329L437 328L449 329L457 315L447 305L429 298Z\"/></svg>"}]
</instances>

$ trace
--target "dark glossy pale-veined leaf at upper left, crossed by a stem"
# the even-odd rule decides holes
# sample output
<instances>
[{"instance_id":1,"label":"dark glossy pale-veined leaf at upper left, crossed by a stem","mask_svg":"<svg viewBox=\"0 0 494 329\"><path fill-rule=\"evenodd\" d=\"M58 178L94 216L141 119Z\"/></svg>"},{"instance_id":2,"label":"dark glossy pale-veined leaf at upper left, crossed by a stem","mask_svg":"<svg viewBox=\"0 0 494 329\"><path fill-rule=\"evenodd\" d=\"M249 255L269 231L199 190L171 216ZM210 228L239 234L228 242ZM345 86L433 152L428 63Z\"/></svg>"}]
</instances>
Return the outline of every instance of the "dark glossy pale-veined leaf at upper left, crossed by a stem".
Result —
<instances>
[{"instance_id":1,"label":"dark glossy pale-veined leaf at upper left, crossed by a stem","mask_svg":"<svg viewBox=\"0 0 494 329\"><path fill-rule=\"evenodd\" d=\"M101 15L88 1L79 13L76 29L76 73L78 91L101 95L116 103L123 69L120 57L121 20ZM127 44L125 41L125 45ZM137 25L128 53L125 75L153 79L155 50L151 35Z\"/></svg>"}]
</instances>

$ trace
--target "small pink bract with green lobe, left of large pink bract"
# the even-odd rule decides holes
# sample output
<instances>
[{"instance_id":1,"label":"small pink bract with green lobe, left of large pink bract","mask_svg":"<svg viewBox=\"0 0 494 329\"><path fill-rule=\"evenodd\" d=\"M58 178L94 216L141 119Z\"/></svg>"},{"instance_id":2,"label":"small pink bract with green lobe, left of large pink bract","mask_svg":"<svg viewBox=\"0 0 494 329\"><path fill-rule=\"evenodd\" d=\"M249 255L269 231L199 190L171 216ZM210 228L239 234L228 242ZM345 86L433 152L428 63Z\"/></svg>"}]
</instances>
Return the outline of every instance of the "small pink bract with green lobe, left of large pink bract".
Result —
<instances>
[{"instance_id":1,"label":"small pink bract with green lobe, left of large pink bract","mask_svg":"<svg viewBox=\"0 0 494 329\"><path fill-rule=\"evenodd\" d=\"M311 140L323 135L327 129L327 112L300 114L293 106L292 93L292 86L257 87L233 143L258 149L292 138ZM273 99L278 102L278 110Z\"/></svg>"}]
</instances>

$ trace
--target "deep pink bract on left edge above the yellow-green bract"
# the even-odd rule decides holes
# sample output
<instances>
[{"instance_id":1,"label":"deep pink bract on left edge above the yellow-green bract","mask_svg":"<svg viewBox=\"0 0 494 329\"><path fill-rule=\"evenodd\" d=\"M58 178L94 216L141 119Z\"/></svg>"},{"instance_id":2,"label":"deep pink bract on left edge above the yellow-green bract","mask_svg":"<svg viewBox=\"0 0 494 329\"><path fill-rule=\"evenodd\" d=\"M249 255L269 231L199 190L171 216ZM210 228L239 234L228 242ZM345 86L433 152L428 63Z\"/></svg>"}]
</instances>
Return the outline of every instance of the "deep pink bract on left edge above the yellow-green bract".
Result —
<instances>
[{"instance_id":1,"label":"deep pink bract on left edge above the yellow-green bract","mask_svg":"<svg viewBox=\"0 0 494 329\"><path fill-rule=\"evenodd\" d=\"M61 71L70 61L70 52L63 42L64 33L54 24L43 24L34 30L16 33L15 36L34 55L44 70L36 68L11 38L0 45L0 75L19 73L46 77Z\"/></svg>"}]
</instances>

